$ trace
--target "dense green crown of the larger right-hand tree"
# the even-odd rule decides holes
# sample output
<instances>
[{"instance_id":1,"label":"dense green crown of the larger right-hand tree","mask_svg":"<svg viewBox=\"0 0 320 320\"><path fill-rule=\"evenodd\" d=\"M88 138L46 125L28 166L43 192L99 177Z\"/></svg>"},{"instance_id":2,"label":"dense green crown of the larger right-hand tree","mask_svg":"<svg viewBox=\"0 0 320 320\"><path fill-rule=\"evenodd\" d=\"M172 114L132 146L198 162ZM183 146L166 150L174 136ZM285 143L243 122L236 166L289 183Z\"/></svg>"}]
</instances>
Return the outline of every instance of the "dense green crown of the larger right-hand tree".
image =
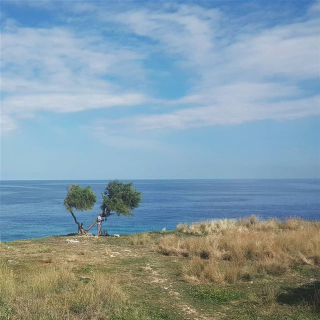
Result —
<instances>
[{"instance_id":1,"label":"dense green crown of the larger right-hand tree","mask_svg":"<svg viewBox=\"0 0 320 320\"><path fill-rule=\"evenodd\" d=\"M134 189L132 182L110 181L102 193L101 209L106 215L114 211L117 215L132 215L131 210L140 205L141 192Z\"/></svg>"}]
</instances>

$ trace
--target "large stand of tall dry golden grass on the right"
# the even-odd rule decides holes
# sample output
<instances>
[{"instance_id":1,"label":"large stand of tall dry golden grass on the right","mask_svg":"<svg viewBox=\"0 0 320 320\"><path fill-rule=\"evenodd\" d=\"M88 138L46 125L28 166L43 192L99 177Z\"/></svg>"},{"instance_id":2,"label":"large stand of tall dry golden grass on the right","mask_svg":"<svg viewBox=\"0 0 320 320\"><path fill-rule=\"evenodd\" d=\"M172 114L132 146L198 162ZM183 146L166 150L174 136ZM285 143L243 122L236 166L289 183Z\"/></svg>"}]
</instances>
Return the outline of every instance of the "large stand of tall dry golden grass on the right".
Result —
<instances>
[{"instance_id":1,"label":"large stand of tall dry golden grass on the right","mask_svg":"<svg viewBox=\"0 0 320 320\"><path fill-rule=\"evenodd\" d=\"M188 280L216 283L278 275L296 264L320 263L320 222L302 219L259 221L250 216L178 224L177 231L203 236L163 236L156 250L190 259L183 266Z\"/></svg>"}]
</instances>

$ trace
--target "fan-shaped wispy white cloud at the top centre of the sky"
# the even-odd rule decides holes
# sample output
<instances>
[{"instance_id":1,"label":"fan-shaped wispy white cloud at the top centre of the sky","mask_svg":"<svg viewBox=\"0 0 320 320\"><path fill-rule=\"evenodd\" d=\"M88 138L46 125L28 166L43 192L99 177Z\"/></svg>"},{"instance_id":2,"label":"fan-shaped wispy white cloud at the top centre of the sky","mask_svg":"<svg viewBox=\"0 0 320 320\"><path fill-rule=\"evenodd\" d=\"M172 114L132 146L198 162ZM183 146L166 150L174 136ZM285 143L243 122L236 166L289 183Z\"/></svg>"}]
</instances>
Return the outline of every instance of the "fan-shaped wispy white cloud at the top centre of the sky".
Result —
<instances>
[{"instance_id":1,"label":"fan-shaped wispy white cloud at the top centre of the sky","mask_svg":"<svg viewBox=\"0 0 320 320\"><path fill-rule=\"evenodd\" d=\"M197 5L178 5L175 10L136 9L120 12L113 19L140 36L158 42L161 51L173 54L185 66L204 65L214 52L215 32L221 11Z\"/></svg>"}]
</instances>

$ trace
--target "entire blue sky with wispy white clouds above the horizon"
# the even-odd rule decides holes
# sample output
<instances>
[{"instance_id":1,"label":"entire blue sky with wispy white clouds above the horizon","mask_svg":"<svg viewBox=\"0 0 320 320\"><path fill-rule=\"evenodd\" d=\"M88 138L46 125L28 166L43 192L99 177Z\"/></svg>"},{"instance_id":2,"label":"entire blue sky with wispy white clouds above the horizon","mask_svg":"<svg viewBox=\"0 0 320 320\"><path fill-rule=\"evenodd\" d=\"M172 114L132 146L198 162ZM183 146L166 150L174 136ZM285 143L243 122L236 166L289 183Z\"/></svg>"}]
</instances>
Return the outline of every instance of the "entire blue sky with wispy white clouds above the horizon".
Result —
<instances>
[{"instance_id":1,"label":"entire blue sky with wispy white clouds above the horizon","mask_svg":"<svg viewBox=\"0 0 320 320\"><path fill-rule=\"evenodd\" d=\"M1 179L320 177L319 1L1 1Z\"/></svg>"}]
</instances>

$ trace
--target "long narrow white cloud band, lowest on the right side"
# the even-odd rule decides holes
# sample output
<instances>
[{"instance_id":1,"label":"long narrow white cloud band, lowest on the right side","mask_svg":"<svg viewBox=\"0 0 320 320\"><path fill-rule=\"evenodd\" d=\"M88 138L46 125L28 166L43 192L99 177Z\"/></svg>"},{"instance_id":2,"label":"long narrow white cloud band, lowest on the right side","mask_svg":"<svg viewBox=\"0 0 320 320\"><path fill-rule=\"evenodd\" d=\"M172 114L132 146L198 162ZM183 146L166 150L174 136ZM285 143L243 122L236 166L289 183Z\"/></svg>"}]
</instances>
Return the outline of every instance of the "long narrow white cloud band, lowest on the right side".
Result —
<instances>
[{"instance_id":1,"label":"long narrow white cloud band, lowest on the right side","mask_svg":"<svg viewBox=\"0 0 320 320\"><path fill-rule=\"evenodd\" d=\"M287 120L320 113L320 96L299 100L256 102L236 100L230 95L213 105L189 107L170 113L140 115L131 118L107 121L107 125L128 127L129 130L186 129L209 125L230 125L246 121L273 119Z\"/></svg>"}]
</instances>

